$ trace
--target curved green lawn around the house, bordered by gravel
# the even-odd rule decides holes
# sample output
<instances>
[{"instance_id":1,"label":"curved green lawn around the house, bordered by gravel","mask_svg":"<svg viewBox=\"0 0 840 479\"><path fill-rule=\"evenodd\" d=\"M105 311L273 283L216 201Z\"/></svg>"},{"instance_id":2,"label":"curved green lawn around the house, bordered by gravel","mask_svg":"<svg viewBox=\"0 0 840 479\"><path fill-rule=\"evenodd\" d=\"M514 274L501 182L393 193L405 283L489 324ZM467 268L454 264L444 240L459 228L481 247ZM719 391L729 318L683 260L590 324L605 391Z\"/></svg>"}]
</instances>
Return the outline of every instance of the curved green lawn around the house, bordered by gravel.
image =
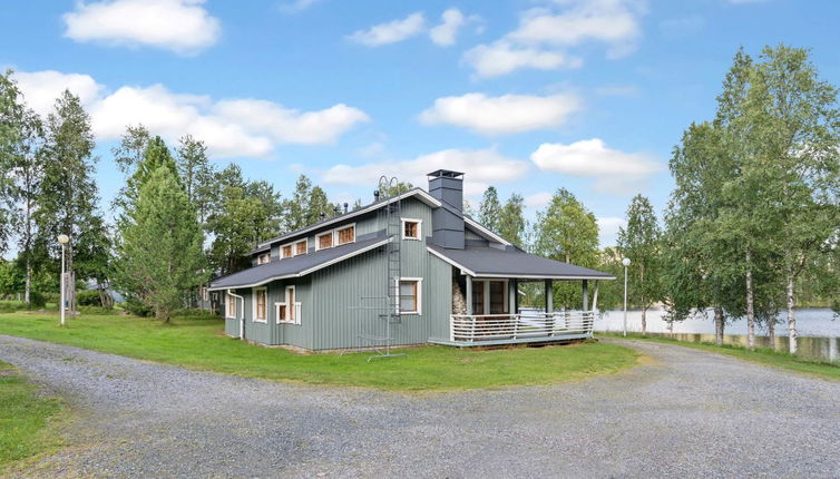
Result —
<instances>
[{"instance_id":1,"label":"curved green lawn around the house, bordered by gravel","mask_svg":"<svg viewBox=\"0 0 840 479\"><path fill-rule=\"evenodd\" d=\"M223 321L82 315L64 329L55 314L0 314L0 334L51 341L196 370L314 384L383 390L466 390L547 384L613 373L636 364L638 354L588 342L554 348L491 351L446 346L407 349L408 358L375 360L370 353L295 354L246 344L223 334Z\"/></svg>"}]
</instances>

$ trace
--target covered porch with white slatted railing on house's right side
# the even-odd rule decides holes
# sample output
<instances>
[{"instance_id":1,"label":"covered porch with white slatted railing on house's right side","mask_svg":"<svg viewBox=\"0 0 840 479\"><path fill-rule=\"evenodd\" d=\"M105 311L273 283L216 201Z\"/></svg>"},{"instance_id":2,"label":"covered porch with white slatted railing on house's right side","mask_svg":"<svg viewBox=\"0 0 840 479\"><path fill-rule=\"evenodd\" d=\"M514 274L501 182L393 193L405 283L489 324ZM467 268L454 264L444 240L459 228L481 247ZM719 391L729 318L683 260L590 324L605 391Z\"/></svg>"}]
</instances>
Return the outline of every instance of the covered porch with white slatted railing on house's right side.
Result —
<instances>
[{"instance_id":1,"label":"covered porch with white slatted railing on house's right side","mask_svg":"<svg viewBox=\"0 0 840 479\"><path fill-rule=\"evenodd\" d=\"M579 309L554 306L555 281L579 284ZM449 317L449 338L438 344L484 346L517 343L563 342L592 338L598 281L554 280L543 277L453 277L453 313ZM524 285L543 285L543 304L520 304ZM459 300L457 290L462 291ZM592 304L589 299L592 297ZM458 307L460 302L461 307ZM460 311L459 311L460 310Z\"/></svg>"}]
</instances>

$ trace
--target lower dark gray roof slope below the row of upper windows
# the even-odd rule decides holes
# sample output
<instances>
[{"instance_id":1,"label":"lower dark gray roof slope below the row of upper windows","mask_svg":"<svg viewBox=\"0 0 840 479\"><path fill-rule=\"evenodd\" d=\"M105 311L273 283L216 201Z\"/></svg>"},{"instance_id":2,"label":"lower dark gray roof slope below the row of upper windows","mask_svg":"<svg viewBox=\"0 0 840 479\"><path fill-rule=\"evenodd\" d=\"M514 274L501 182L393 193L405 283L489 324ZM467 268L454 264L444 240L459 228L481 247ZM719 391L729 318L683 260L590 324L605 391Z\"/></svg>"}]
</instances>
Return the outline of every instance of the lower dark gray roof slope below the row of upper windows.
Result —
<instances>
[{"instance_id":1,"label":"lower dark gray roof slope below the row of upper windows","mask_svg":"<svg viewBox=\"0 0 840 479\"><path fill-rule=\"evenodd\" d=\"M243 270L211 283L211 290L262 286L274 280L305 276L322 267L374 250L388 243L384 232L360 236L355 243L321 250L300 256L274 260L271 263Z\"/></svg>"}]
</instances>

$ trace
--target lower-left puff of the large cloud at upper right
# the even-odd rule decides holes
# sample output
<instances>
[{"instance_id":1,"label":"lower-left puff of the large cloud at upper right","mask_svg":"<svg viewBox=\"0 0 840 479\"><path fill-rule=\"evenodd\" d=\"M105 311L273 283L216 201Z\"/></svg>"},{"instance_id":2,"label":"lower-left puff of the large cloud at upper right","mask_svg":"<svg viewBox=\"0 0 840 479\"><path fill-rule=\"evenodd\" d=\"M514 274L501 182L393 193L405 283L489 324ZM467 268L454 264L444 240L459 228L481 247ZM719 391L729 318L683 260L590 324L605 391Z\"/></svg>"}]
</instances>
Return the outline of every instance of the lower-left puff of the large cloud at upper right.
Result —
<instances>
[{"instance_id":1,"label":"lower-left puff of the large cloud at upper right","mask_svg":"<svg viewBox=\"0 0 840 479\"><path fill-rule=\"evenodd\" d=\"M498 77L520 68L556 70L578 68L583 65L579 58L569 57L560 51L517 47L508 40L499 40L489 46L479 45L463 53L463 61L469 63L479 77Z\"/></svg>"}]
</instances>

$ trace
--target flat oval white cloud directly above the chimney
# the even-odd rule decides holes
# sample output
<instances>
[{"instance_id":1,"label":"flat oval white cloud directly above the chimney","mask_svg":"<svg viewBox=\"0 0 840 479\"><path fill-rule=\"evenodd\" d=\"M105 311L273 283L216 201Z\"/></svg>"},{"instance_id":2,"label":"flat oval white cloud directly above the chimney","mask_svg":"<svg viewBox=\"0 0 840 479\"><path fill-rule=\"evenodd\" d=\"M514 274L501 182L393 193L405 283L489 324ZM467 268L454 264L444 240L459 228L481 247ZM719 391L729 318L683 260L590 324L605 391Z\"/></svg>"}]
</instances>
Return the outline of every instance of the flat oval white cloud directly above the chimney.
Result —
<instances>
[{"instance_id":1,"label":"flat oval white cloud directly above the chimney","mask_svg":"<svg viewBox=\"0 0 840 479\"><path fill-rule=\"evenodd\" d=\"M580 99L572 94L548 97L467 94L438 98L434 106L420 114L420 121L460 126L485 135L505 135L557 128L579 109Z\"/></svg>"}]
</instances>

